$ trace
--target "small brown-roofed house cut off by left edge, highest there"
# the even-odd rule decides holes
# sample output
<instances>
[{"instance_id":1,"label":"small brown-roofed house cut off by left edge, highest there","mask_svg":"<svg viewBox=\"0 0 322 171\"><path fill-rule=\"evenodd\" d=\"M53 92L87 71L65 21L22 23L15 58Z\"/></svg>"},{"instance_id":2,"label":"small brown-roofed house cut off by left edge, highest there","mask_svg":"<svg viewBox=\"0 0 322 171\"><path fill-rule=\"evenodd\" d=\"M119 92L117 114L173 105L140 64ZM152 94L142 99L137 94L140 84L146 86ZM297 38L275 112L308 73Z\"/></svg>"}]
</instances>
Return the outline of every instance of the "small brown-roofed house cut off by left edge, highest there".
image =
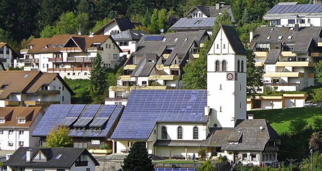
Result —
<instances>
[{"instance_id":1,"label":"small brown-roofed house cut off by left edge, highest there","mask_svg":"<svg viewBox=\"0 0 322 171\"><path fill-rule=\"evenodd\" d=\"M8 43L0 42L0 62L3 64L5 69L10 66L14 66L14 59L18 57L20 57L19 54L12 49ZM2 68L1 63L0 68Z\"/></svg>"}]
</instances>

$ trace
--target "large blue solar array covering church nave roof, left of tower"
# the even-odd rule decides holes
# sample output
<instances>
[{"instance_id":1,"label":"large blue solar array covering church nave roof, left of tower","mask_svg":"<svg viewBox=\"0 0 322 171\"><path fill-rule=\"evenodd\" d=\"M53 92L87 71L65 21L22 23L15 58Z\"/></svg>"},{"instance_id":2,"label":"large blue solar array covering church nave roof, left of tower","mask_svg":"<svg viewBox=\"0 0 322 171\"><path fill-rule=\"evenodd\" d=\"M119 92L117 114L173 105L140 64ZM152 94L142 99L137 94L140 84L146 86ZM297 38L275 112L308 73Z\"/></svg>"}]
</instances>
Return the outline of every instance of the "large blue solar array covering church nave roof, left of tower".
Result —
<instances>
[{"instance_id":1,"label":"large blue solar array covering church nave roof, left of tower","mask_svg":"<svg viewBox=\"0 0 322 171\"><path fill-rule=\"evenodd\" d=\"M111 138L147 139L156 122L207 122L206 90L132 90Z\"/></svg>"}]
</instances>

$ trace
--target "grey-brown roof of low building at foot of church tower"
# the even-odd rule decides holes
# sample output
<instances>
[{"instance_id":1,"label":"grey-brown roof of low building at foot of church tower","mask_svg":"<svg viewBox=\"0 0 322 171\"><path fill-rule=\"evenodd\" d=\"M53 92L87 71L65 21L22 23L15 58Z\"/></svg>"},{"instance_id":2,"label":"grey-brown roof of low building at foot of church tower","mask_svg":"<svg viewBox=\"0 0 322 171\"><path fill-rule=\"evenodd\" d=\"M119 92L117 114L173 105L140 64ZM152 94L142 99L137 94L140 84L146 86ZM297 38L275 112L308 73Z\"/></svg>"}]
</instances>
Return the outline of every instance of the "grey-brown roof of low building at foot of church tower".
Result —
<instances>
[{"instance_id":1,"label":"grey-brown roof of low building at foot of church tower","mask_svg":"<svg viewBox=\"0 0 322 171\"><path fill-rule=\"evenodd\" d=\"M236 122L237 123L237 122ZM221 150L263 151L269 139L280 136L264 119L239 120L234 128L215 128L211 145ZM260 126L263 127L260 130ZM241 131L238 130L241 128ZM228 141L239 141L238 145L228 145Z\"/></svg>"}]
</instances>

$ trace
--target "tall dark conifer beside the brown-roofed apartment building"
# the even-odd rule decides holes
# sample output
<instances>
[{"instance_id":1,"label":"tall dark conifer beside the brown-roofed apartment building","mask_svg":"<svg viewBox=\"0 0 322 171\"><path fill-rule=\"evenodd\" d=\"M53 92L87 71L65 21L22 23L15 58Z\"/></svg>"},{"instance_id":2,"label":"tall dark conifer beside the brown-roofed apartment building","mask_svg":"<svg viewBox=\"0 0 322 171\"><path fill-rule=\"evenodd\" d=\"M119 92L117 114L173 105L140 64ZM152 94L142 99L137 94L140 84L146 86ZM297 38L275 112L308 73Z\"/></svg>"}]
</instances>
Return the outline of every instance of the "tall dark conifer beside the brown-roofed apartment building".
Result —
<instances>
[{"instance_id":1,"label":"tall dark conifer beside the brown-roofed apartment building","mask_svg":"<svg viewBox=\"0 0 322 171\"><path fill-rule=\"evenodd\" d=\"M92 71L90 76L91 96L94 103L102 103L104 101L103 95L107 88L107 82L105 79L106 68L102 65L102 56L98 53L93 59Z\"/></svg>"}]
</instances>

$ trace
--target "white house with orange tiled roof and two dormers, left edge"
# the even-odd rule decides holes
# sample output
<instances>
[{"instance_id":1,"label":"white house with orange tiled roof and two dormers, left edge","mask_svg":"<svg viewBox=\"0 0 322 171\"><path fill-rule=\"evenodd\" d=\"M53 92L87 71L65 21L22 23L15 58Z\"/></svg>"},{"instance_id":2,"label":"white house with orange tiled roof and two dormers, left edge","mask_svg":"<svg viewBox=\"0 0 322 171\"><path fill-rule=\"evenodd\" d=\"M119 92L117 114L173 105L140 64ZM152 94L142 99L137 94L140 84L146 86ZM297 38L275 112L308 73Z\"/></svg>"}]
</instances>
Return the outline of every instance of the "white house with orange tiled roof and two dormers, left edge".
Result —
<instances>
[{"instance_id":1,"label":"white house with orange tiled roof and two dormers, left edge","mask_svg":"<svg viewBox=\"0 0 322 171\"><path fill-rule=\"evenodd\" d=\"M0 149L37 146L39 138L31 133L43 114L41 107L0 107Z\"/></svg>"}]
</instances>

